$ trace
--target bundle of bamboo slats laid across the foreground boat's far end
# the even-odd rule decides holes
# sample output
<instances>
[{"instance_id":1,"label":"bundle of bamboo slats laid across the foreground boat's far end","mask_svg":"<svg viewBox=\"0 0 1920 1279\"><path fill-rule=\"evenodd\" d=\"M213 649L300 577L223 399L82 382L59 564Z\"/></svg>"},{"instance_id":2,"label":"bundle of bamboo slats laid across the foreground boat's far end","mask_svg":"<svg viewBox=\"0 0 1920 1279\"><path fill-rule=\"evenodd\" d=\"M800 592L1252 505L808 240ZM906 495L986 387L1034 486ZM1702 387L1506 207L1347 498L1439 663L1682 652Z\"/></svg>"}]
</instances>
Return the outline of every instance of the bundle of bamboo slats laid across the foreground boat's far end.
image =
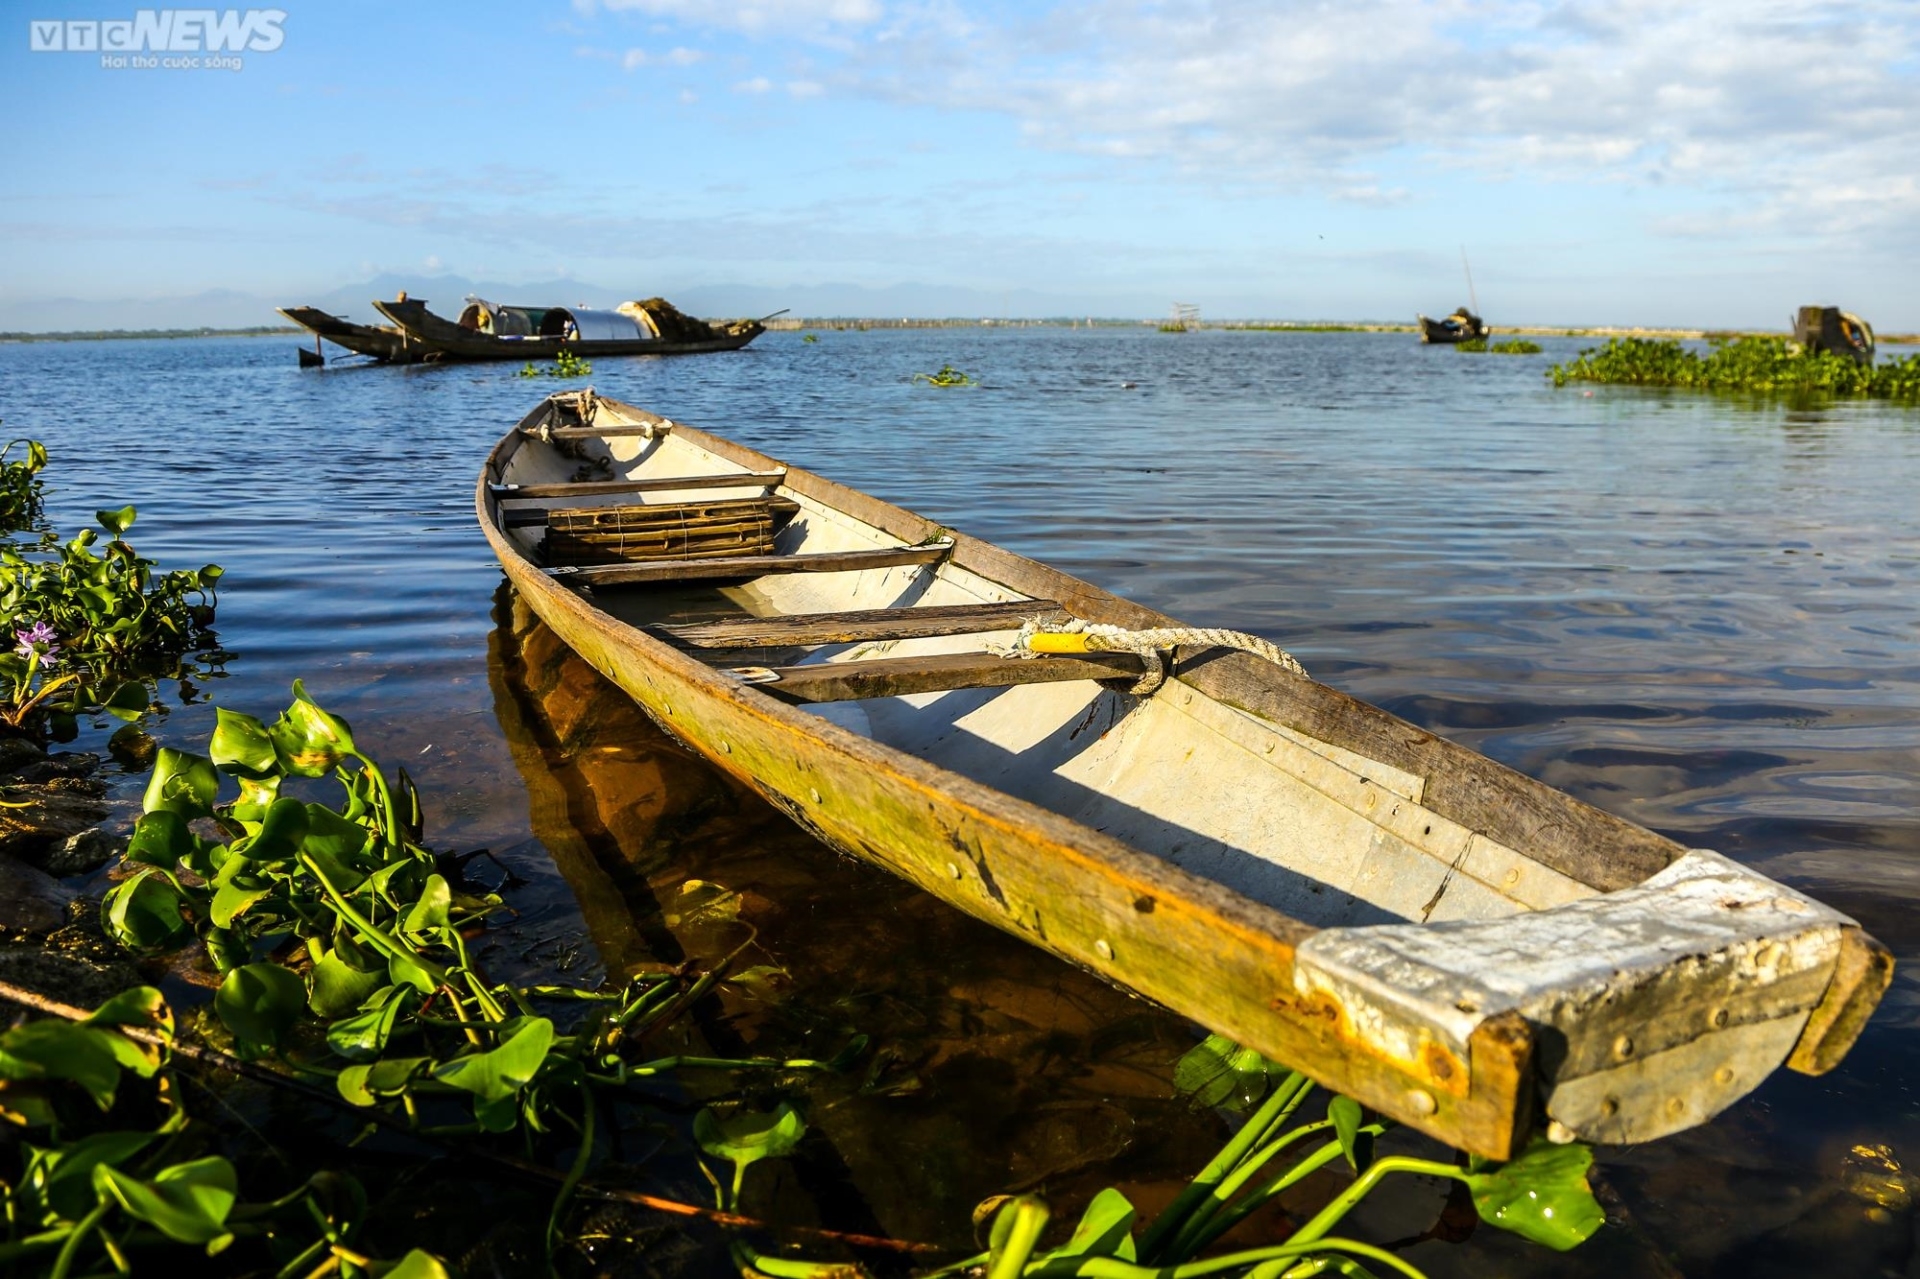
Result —
<instances>
[{"instance_id":1,"label":"bundle of bamboo slats laid across the foreground boat's far end","mask_svg":"<svg viewBox=\"0 0 1920 1279\"><path fill-rule=\"evenodd\" d=\"M791 497L561 507L547 511L540 551L549 565L772 555L799 511Z\"/></svg>"}]
</instances>

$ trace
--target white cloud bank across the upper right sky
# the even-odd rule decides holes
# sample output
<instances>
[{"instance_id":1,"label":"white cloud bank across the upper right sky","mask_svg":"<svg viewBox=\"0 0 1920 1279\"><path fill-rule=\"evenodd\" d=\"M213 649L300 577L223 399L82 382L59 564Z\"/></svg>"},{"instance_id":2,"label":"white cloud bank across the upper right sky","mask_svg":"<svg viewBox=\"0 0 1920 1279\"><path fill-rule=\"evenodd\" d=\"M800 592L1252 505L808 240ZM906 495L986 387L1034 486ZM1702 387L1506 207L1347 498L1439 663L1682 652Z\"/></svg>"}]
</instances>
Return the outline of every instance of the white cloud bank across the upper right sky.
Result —
<instances>
[{"instance_id":1,"label":"white cloud bank across the upper right sky","mask_svg":"<svg viewBox=\"0 0 1920 1279\"><path fill-rule=\"evenodd\" d=\"M1031 146L1217 182L1373 204L1465 171L1686 186L1814 232L1920 215L1910 0L601 2L791 35L814 56L795 84L1006 113Z\"/></svg>"}]
</instances>

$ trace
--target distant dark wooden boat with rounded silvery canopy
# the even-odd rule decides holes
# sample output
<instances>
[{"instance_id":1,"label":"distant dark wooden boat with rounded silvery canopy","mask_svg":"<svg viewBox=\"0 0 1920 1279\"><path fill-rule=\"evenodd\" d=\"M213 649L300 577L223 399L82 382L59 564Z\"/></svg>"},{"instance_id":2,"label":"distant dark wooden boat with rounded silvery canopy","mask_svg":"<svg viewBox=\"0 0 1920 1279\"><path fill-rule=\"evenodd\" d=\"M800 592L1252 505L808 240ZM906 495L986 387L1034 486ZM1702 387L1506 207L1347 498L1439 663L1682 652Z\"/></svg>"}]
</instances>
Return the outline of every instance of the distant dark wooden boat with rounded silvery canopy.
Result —
<instances>
[{"instance_id":1,"label":"distant dark wooden boat with rounded silvery canopy","mask_svg":"<svg viewBox=\"0 0 1920 1279\"><path fill-rule=\"evenodd\" d=\"M434 315L419 298L372 303L394 321L428 361L553 359L563 350L599 355L697 355L737 351L766 326L760 321L708 325L682 315L660 298L628 302L614 311L586 307L507 307L472 298L457 321ZM768 317L772 319L772 317Z\"/></svg>"}]
</instances>

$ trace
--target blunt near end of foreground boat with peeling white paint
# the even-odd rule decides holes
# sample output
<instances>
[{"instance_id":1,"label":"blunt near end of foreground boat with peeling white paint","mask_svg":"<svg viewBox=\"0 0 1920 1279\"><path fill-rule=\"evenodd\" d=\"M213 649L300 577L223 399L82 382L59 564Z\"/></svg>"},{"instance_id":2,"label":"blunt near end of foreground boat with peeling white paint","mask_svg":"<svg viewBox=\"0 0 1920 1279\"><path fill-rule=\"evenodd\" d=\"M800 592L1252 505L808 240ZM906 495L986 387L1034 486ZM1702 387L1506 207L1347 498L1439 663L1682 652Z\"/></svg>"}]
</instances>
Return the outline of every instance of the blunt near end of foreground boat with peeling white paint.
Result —
<instances>
[{"instance_id":1,"label":"blunt near end of foreground boat with peeling white paint","mask_svg":"<svg viewBox=\"0 0 1920 1279\"><path fill-rule=\"evenodd\" d=\"M1594 1143L1705 1123L1780 1066L1830 1070L1891 976L1851 918L1705 849L1551 910L1325 929L1294 964L1302 997L1434 1087L1471 1087L1473 1037L1517 1014L1548 1135Z\"/></svg>"}]
</instances>

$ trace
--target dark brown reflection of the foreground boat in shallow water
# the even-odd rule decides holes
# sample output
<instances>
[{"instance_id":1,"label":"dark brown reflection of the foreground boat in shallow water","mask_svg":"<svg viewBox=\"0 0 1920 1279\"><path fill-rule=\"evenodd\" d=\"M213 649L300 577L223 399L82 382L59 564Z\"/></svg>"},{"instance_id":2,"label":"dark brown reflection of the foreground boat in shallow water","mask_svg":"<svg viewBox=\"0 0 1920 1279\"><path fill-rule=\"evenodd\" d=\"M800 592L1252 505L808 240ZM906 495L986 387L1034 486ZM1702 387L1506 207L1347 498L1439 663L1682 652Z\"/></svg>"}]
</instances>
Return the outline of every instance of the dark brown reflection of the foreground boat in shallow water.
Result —
<instances>
[{"instance_id":1,"label":"dark brown reflection of the foreground boat in shallow water","mask_svg":"<svg viewBox=\"0 0 1920 1279\"><path fill-rule=\"evenodd\" d=\"M1225 1123L1171 1085L1190 1024L837 857L678 747L507 591L499 620L501 728L609 977L739 951L733 979L647 1052L826 1058L872 1037L845 1075L797 1077L814 1135L791 1175L749 1175L749 1212L972 1250L989 1195L1043 1189L1062 1216L1117 1183L1150 1208L1212 1158ZM764 1085L684 1081L695 1097ZM1284 1233L1279 1218L1263 1229Z\"/></svg>"}]
</instances>

